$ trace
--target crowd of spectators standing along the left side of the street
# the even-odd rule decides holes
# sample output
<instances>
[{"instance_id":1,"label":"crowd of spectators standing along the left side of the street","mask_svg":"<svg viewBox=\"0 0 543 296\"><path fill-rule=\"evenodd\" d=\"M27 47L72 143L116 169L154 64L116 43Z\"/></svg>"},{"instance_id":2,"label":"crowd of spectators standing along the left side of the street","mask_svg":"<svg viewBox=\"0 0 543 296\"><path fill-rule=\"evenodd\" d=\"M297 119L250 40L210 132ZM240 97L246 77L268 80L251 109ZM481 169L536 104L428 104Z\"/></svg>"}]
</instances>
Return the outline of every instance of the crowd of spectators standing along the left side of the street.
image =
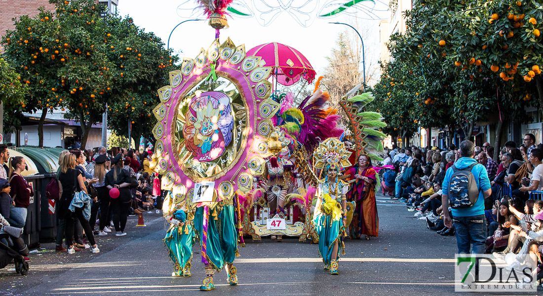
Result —
<instances>
[{"instance_id":1,"label":"crowd of spectators standing along the left side of the street","mask_svg":"<svg viewBox=\"0 0 543 296\"><path fill-rule=\"evenodd\" d=\"M56 251L74 254L91 249L92 253L99 253L94 236L108 235L113 228L115 236L126 235L128 216L154 207L161 209L162 200L160 193L153 196L151 150L143 153L119 147L81 150L78 144L78 138L74 138L70 149L60 153L59 169L49 183L55 186L48 185L48 190L58 187L58 192L53 190L54 196L49 197L58 200ZM34 192L21 175L28 169L23 157L10 158L7 145L1 144L0 162L0 242L12 247L18 243L14 242L16 237L4 234L23 232ZM117 188L118 197L110 194L113 188Z\"/></svg>"}]
</instances>

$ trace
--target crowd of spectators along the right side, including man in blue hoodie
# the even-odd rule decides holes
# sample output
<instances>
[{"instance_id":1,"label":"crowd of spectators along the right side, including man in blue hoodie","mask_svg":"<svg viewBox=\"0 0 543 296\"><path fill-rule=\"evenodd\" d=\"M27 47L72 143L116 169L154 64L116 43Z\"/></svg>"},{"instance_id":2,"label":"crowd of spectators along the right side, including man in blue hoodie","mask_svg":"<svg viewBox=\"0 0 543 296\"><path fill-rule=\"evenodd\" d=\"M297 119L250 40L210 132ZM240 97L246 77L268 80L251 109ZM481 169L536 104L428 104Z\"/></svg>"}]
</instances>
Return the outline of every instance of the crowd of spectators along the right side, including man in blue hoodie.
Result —
<instances>
[{"instance_id":1,"label":"crowd of spectators along the right side, including man in blue hoodie","mask_svg":"<svg viewBox=\"0 0 543 296\"><path fill-rule=\"evenodd\" d=\"M381 194L406 203L408 211L424 219L440 235L456 235L458 253L493 254L507 270L522 270L543 254L543 145L526 134L516 147L508 141L494 158L494 147L393 147L386 151ZM449 205L453 173L470 170L479 196L469 207ZM452 223L454 221L454 223ZM484 223L481 223L484 222ZM512 261L510 258L514 258ZM543 278L543 264L531 266Z\"/></svg>"}]
</instances>

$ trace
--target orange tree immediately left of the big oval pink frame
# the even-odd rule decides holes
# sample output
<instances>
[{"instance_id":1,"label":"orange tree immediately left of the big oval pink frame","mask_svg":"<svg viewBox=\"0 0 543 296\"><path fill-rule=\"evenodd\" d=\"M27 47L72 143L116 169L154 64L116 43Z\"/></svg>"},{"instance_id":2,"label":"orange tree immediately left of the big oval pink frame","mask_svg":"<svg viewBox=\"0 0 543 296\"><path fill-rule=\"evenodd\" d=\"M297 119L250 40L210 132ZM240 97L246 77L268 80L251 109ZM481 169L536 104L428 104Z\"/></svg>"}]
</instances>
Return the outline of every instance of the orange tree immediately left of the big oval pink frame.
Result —
<instances>
[{"instance_id":1,"label":"orange tree immediately left of the big oval pink frame","mask_svg":"<svg viewBox=\"0 0 543 296\"><path fill-rule=\"evenodd\" d=\"M164 48L159 37L135 26L131 18L111 17L107 24L111 44L107 56L122 77L105 91L117 98L109 104L108 125L118 134L128 135L131 124L136 147L141 136L154 142L156 117L151 113L160 103L157 90L169 84L168 72L178 68L174 63L179 58Z\"/></svg>"}]
</instances>

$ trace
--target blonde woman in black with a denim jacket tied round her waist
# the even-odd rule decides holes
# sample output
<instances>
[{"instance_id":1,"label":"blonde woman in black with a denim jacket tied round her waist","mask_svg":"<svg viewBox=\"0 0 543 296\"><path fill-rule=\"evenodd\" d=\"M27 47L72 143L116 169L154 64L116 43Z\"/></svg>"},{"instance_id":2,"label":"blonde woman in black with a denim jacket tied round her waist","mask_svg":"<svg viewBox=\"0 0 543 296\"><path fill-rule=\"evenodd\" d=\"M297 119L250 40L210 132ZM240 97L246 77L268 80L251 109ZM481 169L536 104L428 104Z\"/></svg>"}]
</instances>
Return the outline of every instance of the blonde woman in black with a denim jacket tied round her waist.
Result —
<instances>
[{"instance_id":1,"label":"blonde woman in black with a denim jacket tied round her waist","mask_svg":"<svg viewBox=\"0 0 543 296\"><path fill-rule=\"evenodd\" d=\"M68 245L68 254L74 254L75 248L73 244L73 228L74 228L74 216L79 219L79 222L85 230L87 238L92 245L92 253L99 253L98 245L94 241L94 235L92 234L89 221L83 216L83 209L76 207L75 211L70 211L70 205L74 194L79 191L87 193L85 187L84 177L81 175L79 169L75 169L75 155L70 153L66 154L63 158L62 166L60 168L59 181L59 217L64 217L66 220L66 244Z\"/></svg>"}]
</instances>

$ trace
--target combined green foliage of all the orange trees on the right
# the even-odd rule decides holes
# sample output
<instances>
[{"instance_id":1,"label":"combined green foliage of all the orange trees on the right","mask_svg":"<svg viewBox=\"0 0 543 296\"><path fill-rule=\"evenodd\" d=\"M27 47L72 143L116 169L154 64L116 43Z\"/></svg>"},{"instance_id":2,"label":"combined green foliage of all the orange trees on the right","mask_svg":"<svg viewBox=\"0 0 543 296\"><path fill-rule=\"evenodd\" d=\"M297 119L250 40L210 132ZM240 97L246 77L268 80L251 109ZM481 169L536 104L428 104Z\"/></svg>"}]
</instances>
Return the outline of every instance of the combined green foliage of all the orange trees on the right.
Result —
<instances>
[{"instance_id":1,"label":"combined green foliage of all the orange trees on the right","mask_svg":"<svg viewBox=\"0 0 543 296\"><path fill-rule=\"evenodd\" d=\"M375 86L376 97L393 105L393 110L380 106L388 131L415 122L422 127L460 125L467 132L500 111L501 119L521 118L523 106L535 104L530 99L538 93L536 84L543 90L539 74L526 79L531 82L523 77L543 64L543 36L535 31L541 27L543 7L534 0L520 4L414 2L405 13L407 32L391 36L394 60L382 65L384 75ZM529 22L532 17L535 24ZM401 82L391 84L391 78ZM543 105L543 93L538 94Z\"/></svg>"}]
</instances>

